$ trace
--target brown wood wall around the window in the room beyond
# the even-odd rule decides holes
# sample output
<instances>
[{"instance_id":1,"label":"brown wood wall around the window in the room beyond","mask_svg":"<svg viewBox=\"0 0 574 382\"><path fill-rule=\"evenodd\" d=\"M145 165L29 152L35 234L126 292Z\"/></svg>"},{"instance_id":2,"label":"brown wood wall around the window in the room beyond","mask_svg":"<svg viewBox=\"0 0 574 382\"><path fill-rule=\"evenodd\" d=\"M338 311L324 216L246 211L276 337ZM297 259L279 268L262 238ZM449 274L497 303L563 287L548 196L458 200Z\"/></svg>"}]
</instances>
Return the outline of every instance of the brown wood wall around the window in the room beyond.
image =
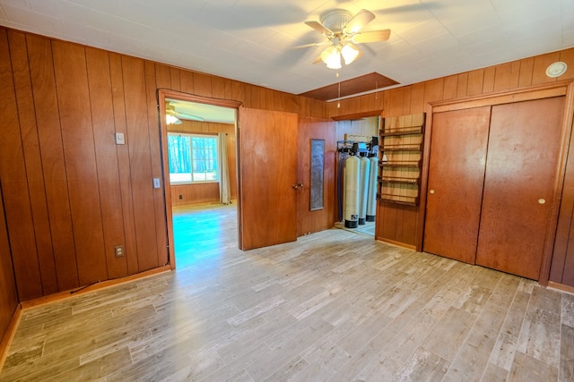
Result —
<instances>
[{"instance_id":1,"label":"brown wood wall around the window in the room beyond","mask_svg":"<svg viewBox=\"0 0 574 382\"><path fill-rule=\"evenodd\" d=\"M168 126L169 132L190 132L198 134L227 134L227 160L230 171L230 198L237 199L237 142L235 125L199 121L182 121ZM180 198L181 197L181 198ZM219 183L181 184L171 186L171 205L189 206L194 204L219 202Z\"/></svg>"}]
</instances>

